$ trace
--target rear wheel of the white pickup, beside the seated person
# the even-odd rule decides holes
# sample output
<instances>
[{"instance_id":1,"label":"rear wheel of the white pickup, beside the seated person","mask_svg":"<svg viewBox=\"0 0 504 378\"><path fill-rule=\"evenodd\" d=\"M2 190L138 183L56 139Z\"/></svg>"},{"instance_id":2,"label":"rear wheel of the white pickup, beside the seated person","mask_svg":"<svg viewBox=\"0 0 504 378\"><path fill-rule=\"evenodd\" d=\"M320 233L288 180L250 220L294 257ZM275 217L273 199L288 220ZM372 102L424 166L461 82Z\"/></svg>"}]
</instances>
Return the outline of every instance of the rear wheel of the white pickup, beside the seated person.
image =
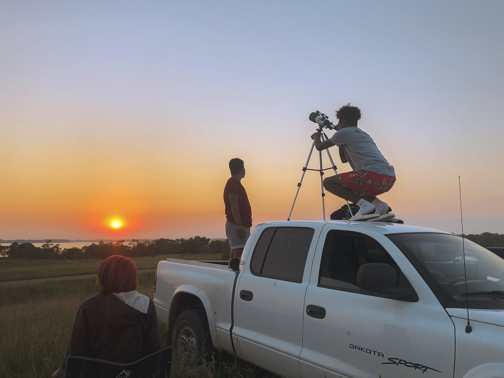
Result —
<instances>
[{"instance_id":1,"label":"rear wheel of the white pickup, beside the seated person","mask_svg":"<svg viewBox=\"0 0 504 378\"><path fill-rule=\"evenodd\" d=\"M173 326L171 345L179 353L190 356L210 351L212 339L205 310L185 310L178 316Z\"/></svg>"}]
</instances>

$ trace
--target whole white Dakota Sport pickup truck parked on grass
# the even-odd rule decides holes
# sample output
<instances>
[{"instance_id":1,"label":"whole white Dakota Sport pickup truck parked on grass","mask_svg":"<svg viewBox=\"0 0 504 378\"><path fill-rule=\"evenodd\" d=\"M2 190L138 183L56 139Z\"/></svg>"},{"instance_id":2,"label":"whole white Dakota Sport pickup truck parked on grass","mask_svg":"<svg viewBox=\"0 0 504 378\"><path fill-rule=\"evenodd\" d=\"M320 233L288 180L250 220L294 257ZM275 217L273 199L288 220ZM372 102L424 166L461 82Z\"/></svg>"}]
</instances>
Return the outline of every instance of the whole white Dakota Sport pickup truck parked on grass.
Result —
<instances>
[{"instance_id":1,"label":"whole white Dakota Sport pickup truck parked on grass","mask_svg":"<svg viewBox=\"0 0 504 378\"><path fill-rule=\"evenodd\" d=\"M504 377L504 260L460 236L271 222L234 268L159 262L154 303L175 348L283 377Z\"/></svg>"}]
</instances>

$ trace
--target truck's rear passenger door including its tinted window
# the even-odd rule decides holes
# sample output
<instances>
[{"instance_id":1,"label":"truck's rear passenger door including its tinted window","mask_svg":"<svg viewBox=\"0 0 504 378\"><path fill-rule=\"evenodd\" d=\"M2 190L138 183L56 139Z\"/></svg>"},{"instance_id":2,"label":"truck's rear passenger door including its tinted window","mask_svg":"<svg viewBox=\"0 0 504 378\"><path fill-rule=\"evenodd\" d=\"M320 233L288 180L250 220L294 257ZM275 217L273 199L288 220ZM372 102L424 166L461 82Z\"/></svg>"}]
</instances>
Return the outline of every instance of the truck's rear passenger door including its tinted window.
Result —
<instances>
[{"instance_id":1,"label":"truck's rear passenger door including its tinted window","mask_svg":"<svg viewBox=\"0 0 504 378\"><path fill-rule=\"evenodd\" d=\"M238 281L233 337L241 359L296 378L304 293L323 224L303 225L262 231Z\"/></svg>"}]
</instances>

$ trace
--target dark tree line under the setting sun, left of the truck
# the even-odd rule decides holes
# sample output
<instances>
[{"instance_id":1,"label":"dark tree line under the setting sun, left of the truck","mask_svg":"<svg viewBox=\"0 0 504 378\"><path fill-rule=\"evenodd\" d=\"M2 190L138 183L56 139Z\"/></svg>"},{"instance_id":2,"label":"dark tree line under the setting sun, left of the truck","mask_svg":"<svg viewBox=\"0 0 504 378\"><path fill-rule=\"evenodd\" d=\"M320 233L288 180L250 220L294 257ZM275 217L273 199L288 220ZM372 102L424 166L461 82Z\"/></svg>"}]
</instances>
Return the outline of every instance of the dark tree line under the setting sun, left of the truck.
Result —
<instances>
[{"instance_id":1,"label":"dark tree line under the setting sun, left of the truck","mask_svg":"<svg viewBox=\"0 0 504 378\"><path fill-rule=\"evenodd\" d=\"M45 260L103 260L112 255L142 257L156 255L187 254L220 254L224 260L229 259L228 240L210 240L208 237L195 236L188 239L154 239L140 241L132 239L92 243L82 248L61 248L59 243L46 240L40 247L32 243L13 242L11 245L0 245L0 257L6 259L45 259ZM226 257L227 256L227 257Z\"/></svg>"}]
</instances>

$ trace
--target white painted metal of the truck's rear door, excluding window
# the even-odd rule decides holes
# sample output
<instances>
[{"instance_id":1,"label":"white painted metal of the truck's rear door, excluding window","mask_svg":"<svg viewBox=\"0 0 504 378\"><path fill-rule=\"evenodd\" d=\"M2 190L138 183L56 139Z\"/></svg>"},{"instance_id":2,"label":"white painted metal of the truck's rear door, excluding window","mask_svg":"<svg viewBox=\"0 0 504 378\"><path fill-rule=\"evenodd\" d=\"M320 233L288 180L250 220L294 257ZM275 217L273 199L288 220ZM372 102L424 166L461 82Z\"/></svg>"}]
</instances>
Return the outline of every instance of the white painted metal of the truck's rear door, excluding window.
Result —
<instances>
[{"instance_id":1,"label":"white painted metal of the truck's rear door, excluding window","mask_svg":"<svg viewBox=\"0 0 504 378\"><path fill-rule=\"evenodd\" d=\"M306 227L307 222L291 222L292 226ZM311 223L314 235L320 234L324 224ZM258 230L258 233L266 225ZM251 254L243 256L243 271L238 279L241 290L254 291L253 301L236 301L236 336L238 355L251 363L263 361L275 374L299 378L299 353L303 341L304 294L308 285L311 262L318 237L313 237L304 267L303 282L289 282L254 276L249 269ZM258 279L260 278L260 279ZM239 319L239 321L238 321ZM254 361L249 360L253 357Z\"/></svg>"}]
</instances>

